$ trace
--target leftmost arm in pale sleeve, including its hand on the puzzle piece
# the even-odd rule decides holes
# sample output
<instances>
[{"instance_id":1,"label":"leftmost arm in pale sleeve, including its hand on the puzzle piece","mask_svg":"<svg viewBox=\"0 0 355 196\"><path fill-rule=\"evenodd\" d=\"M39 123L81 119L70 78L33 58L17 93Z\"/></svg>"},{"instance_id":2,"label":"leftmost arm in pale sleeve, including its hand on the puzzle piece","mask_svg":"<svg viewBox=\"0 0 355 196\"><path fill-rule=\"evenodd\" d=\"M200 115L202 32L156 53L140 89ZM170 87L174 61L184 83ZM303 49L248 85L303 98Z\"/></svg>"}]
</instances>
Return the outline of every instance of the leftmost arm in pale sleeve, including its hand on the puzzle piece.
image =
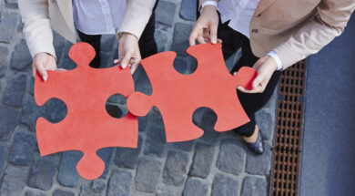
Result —
<instances>
[{"instance_id":1,"label":"leftmost arm in pale sleeve, including its hand on the puzzle piece","mask_svg":"<svg viewBox=\"0 0 355 196\"><path fill-rule=\"evenodd\" d=\"M46 0L19 0L18 7L24 22L25 40L33 57L32 75L36 71L46 81L46 70L56 70L56 52Z\"/></svg>"}]
</instances>

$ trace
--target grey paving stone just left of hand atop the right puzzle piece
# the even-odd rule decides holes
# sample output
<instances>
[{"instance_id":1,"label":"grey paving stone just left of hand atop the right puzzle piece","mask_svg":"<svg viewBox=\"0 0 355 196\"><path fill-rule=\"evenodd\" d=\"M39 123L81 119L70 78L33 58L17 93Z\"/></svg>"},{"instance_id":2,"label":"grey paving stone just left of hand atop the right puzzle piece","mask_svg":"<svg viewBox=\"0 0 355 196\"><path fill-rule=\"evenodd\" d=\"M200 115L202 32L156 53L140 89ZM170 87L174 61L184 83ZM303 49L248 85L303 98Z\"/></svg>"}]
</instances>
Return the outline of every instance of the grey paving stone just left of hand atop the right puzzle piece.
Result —
<instances>
[{"instance_id":1,"label":"grey paving stone just left of hand atop the right puzzle piece","mask_svg":"<svg viewBox=\"0 0 355 196\"><path fill-rule=\"evenodd\" d=\"M188 54L188 36L190 36L192 25L177 23L174 28L173 43L171 44L172 50L177 52L178 56L186 57Z\"/></svg>"}]
</instances>

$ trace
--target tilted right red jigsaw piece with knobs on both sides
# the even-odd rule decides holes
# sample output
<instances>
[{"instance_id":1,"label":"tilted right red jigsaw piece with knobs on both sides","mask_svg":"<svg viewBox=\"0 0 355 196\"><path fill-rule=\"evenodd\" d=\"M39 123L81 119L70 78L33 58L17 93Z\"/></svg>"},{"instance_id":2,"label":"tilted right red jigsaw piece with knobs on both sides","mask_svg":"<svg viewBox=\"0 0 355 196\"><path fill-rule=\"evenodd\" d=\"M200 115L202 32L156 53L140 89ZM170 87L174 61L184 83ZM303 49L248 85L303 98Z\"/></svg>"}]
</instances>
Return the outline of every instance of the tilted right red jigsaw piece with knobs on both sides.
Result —
<instances>
[{"instance_id":1,"label":"tilted right red jigsaw piece with knobs on both sides","mask_svg":"<svg viewBox=\"0 0 355 196\"><path fill-rule=\"evenodd\" d=\"M241 67L236 76L230 75L222 55L221 45L198 45L188 48L188 54L198 60L191 75L181 75L173 67L175 52L163 52L141 61L152 85L152 95L133 93L127 99L128 110L145 116L156 106L164 121L167 142L197 139L203 135L192 122L197 108L207 107L218 116L215 129L227 131L249 122L238 101L238 86L251 89L257 72Z\"/></svg>"}]
</instances>

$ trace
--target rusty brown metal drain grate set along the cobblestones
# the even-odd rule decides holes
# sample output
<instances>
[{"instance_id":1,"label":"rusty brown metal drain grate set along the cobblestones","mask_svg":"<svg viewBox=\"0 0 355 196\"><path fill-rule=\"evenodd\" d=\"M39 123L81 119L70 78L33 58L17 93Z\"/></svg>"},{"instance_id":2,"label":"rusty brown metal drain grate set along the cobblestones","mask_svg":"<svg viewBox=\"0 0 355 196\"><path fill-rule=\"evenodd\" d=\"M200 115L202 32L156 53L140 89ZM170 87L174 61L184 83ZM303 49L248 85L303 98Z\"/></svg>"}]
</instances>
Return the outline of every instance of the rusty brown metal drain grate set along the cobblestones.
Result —
<instances>
[{"instance_id":1,"label":"rusty brown metal drain grate set along the cobblestones","mask_svg":"<svg viewBox=\"0 0 355 196\"><path fill-rule=\"evenodd\" d=\"M274 139L271 196L299 195L299 163L303 126L306 61L283 71Z\"/></svg>"}]
</instances>

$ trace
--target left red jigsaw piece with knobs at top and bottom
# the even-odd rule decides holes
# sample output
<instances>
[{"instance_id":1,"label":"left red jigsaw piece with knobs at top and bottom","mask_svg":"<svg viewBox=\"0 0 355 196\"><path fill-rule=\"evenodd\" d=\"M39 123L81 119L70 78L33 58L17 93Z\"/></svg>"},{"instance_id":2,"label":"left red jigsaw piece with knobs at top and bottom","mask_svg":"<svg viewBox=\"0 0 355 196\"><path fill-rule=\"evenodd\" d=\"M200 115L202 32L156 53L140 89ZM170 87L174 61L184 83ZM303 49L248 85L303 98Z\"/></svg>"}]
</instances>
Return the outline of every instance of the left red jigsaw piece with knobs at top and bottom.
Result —
<instances>
[{"instance_id":1,"label":"left red jigsaw piece with knobs at top and bottom","mask_svg":"<svg viewBox=\"0 0 355 196\"><path fill-rule=\"evenodd\" d=\"M105 170L105 162L96 151L106 147L137 148L137 117L127 114L115 119L106 113L106 100L114 94L126 98L135 90L129 68L95 69L89 63L95 50L86 43L77 43L69 51L77 67L69 71L48 71L46 82L35 77L35 102L42 106L49 98L66 103L66 119L52 124L39 118L36 136L42 156L80 150L84 153L76 170L86 180L94 180Z\"/></svg>"}]
</instances>

